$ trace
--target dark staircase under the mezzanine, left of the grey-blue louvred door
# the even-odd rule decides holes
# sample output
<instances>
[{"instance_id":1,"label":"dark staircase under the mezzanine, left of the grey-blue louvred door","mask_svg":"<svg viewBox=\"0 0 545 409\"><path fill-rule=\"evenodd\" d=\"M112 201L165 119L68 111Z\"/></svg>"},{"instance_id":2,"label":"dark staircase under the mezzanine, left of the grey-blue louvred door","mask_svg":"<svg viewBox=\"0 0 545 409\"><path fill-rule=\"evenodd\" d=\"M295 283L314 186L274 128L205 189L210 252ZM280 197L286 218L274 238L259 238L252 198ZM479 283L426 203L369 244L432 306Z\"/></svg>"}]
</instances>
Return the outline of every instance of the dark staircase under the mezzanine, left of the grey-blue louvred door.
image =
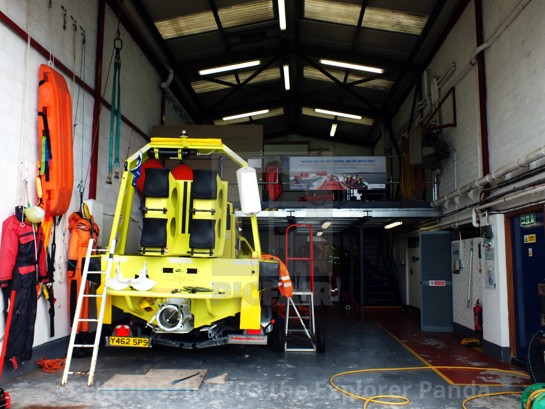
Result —
<instances>
[{"instance_id":1,"label":"dark staircase under the mezzanine, left of the grey-blue louvred door","mask_svg":"<svg viewBox=\"0 0 545 409\"><path fill-rule=\"evenodd\" d=\"M383 228L366 229L364 257L364 305L396 305L396 264L390 239Z\"/></svg>"}]
</instances>

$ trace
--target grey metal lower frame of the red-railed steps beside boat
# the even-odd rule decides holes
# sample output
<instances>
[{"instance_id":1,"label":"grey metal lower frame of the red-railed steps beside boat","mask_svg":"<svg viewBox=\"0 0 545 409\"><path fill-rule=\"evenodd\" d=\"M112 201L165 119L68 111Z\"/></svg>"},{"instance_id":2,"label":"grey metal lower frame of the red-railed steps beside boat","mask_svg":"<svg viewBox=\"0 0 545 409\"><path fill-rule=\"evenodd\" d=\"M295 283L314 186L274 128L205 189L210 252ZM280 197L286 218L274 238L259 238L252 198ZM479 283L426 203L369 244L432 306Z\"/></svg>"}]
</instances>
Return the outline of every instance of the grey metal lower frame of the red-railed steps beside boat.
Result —
<instances>
[{"instance_id":1,"label":"grey metal lower frame of the red-railed steps beside boat","mask_svg":"<svg viewBox=\"0 0 545 409\"><path fill-rule=\"evenodd\" d=\"M299 300L294 301L293 297L289 297L286 304L286 321L284 322L284 351L316 352L316 326L314 324L313 293L312 291L294 291L293 295L297 296ZM301 306L308 308L308 316L301 315L298 308ZM298 338L306 341L305 337L302 335L298 336L298 333L305 333L312 347L288 347L288 338Z\"/></svg>"}]
</instances>

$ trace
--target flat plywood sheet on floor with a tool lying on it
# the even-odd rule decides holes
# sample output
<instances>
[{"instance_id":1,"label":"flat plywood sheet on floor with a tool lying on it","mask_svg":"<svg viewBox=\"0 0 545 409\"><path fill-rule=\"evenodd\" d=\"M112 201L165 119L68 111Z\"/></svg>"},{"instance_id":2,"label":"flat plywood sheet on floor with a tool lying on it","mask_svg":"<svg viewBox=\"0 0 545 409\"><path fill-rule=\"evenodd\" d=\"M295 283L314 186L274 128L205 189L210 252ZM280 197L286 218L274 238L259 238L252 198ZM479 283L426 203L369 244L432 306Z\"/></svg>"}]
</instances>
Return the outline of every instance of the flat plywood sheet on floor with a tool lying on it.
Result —
<instances>
[{"instance_id":1,"label":"flat plywood sheet on floor with a tool lying on it","mask_svg":"<svg viewBox=\"0 0 545 409\"><path fill-rule=\"evenodd\" d=\"M172 384L186 376L189 379ZM198 390L207 369L150 369L146 375L117 374L106 381L99 390Z\"/></svg>"}]
</instances>

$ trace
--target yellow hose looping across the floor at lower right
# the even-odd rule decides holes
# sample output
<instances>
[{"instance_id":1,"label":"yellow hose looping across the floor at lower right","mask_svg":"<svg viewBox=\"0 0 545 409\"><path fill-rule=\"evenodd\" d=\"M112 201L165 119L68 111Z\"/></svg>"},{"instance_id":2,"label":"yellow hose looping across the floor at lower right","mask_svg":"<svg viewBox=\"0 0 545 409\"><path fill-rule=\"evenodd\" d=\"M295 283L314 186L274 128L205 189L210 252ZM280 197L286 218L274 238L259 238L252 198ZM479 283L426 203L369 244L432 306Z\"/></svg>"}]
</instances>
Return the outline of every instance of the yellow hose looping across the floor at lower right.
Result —
<instances>
[{"instance_id":1,"label":"yellow hose looping across the floor at lower right","mask_svg":"<svg viewBox=\"0 0 545 409\"><path fill-rule=\"evenodd\" d=\"M494 368L479 368L479 367L475 367L475 366L414 366L412 368L373 368L373 369L359 369L359 370L355 370L355 371L347 371L347 372L341 372L339 374L336 374L336 375L333 375L331 377L331 379L329 380L329 383L331 383L331 386L334 387L335 389L337 389L339 392L342 392L344 394L347 394L349 396L352 396L353 398L356 398L356 399L361 399L361 400L365 400L365 405L364 405L364 409L367 408L367 405L369 404L369 402L374 402L376 404L382 404L382 405L406 405L409 403L409 399L405 398L405 396L399 396L399 395L379 395L379 396L372 396L371 398L365 398L365 396L360 396L360 395L356 395L356 394L353 394L353 393L350 393L348 392L347 390L344 390L340 387L338 387L334 382L333 380L337 377L337 376L341 376L341 375L349 375L349 374L357 374L359 372L373 372L373 371L410 371L410 370L417 370L417 369L469 369L469 370L480 370L480 371L494 371L494 372L505 372L505 373L508 373L508 374L515 374L515 375L520 375L520 376L525 376L527 378L529 378L530 376L529 375L526 375L526 374L522 374L521 372L516 372L516 371L509 371L509 370L505 370L505 369L494 369ZM505 386L505 385L490 385L490 386ZM476 396L471 396L470 398L464 400L462 402L462 407L464 409L467 409L467 407L465 406L465 403L470 401L471 399L475 399L475 398L480 398L481 396L494 396L494 395L506 395L506 394L516 394L516 393L523 393L524 391L520 391L520 392L498 392L498 393L486 393L486 394L481 394L481 395L476 395ZM386 401L383 401L383 400L378 400L378 399L401 399L402 401L401 402L386 402Z\"/></svg>"}]
</instances>

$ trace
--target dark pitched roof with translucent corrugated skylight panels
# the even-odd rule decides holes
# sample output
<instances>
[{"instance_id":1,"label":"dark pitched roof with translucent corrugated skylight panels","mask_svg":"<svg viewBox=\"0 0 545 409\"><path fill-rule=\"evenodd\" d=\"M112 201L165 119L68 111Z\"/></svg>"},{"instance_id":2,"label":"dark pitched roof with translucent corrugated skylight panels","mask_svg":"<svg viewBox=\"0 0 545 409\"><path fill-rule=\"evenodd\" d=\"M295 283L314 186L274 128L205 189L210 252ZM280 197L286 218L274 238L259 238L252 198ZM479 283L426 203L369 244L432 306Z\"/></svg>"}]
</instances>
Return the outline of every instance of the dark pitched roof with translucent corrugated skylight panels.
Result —
<instances>
[{"instance_id":1,"label":"dark pitched roof with translucent corrugated skylight panels","mask_svg":"<svg viewBox=\"0 0 545 409\"><path fill-rule=\"evenodd\" d=\"M312 111L308 116L302 107L360 112L367 119L340 123L335 141L373 148L380 135L378 119L392 115L459 4L461 0L290 1L285 30L277 0L138 0L125 12L135 14L131 20L142 26L140 34L149 44L162 41L152 53L173 68L172 92L195 121L212 123L232 113L283 106L283 116L252 118L263 125L264 140L289 134L329 140L331 118ZM156 29L163 39L153 35ZM344 71L320 64L320 59L384 73L366 81L374 74ZM252 60L261 64L196 76L203 69ZM283 64L290 69L288 91ZM233 76L237 73L238 78ZM256 77L244 83L250 75Z\"/></svg>"}]
</instances>

